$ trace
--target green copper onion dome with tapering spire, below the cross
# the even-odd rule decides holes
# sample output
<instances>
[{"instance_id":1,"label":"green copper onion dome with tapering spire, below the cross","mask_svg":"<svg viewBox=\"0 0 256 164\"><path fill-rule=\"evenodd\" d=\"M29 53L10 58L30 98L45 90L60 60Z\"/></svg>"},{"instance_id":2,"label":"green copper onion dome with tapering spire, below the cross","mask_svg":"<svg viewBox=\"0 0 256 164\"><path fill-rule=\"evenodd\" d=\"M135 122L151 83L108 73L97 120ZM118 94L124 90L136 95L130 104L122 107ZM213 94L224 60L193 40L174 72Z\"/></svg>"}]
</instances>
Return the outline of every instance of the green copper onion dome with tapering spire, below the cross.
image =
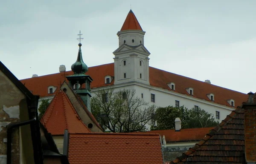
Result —
<instances>
[{"instance_id":1,"label":"green copper onion dome with tapering spire, below the cross","mask_svg":"<svg viewBox=\"0 0 256 164\"><path fill-rule=\"evenodd\" d=\"M84 74L88 71L87 65L84 63L82 58L82 51L81 51L81 43L79 45L79 51L77 55L76 62L71 66L71 70L74 72L74 74Z\"/></svg>"}]
</instances>

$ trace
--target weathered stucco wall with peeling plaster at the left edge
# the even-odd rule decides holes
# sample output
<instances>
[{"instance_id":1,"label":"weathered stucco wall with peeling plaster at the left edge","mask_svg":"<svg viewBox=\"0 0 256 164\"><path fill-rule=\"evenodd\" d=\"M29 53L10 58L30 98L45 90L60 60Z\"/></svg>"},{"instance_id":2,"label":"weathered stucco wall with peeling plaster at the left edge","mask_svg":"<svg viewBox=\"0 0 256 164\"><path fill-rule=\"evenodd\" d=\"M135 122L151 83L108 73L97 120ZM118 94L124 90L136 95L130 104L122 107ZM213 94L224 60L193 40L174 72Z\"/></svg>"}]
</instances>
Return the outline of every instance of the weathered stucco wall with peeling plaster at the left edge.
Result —
<instances>
[{"instance_id":1,"label":"weathered stucco wall with peeling plaster at the left edge","mask_svg":"<svg viewBox=\"0 0 256 164\"><path fill-rule=\"evenodd\" d=\"M7 129L11 122L28 119L25 95L0 71L0 164L6 164ZM20 130L21 129L21 130ZM24 136L23 138L20 136ZM29 125L12 132L12 163L33 164L32 139ZM20 148L23 145L23 151ZM29 154L28 154L29 153Z\"/></svg>"}]
</instances>

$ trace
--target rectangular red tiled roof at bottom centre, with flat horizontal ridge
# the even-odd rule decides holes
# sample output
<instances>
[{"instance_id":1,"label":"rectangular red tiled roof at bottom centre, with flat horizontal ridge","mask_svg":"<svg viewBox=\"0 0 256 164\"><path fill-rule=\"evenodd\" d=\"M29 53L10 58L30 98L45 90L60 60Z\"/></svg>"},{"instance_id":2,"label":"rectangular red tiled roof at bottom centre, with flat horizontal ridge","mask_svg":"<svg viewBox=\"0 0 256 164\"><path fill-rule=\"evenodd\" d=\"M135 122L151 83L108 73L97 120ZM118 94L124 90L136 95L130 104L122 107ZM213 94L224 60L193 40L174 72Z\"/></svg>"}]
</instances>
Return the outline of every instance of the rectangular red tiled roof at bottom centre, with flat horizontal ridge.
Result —
<instances>
[{"instance_id":1,"label":"rectangular red tiled roof at bottom centre, with flat horizontal ridge","mask_svg":"<svg viewBox=\"0 0 256 164\"><path fill-rule=\"evenodd\" d=\"M70 164L163 164L157 134L70 134L68 157Z\"/></svg>"}]
</instances>

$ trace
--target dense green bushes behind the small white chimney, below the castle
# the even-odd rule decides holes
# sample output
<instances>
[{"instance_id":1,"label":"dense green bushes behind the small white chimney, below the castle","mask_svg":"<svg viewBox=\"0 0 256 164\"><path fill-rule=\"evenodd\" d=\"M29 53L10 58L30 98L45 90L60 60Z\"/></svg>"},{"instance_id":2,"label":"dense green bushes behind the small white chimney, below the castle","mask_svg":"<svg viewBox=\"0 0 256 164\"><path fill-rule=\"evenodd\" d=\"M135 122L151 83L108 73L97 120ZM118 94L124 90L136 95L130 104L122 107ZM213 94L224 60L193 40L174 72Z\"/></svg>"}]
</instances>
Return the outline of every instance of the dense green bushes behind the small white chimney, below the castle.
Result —
<instances>
[{"instance_id":1,"label":"dense green bushes behind the small white chimney, below the castle","mask_svg":"<svg viewBox=\"0 0 256 164\"><path fill-rule=\"evenodd\" d=\"M201 108L192 108L188 110L186 107L159 107L155 113L155 121L157 126L151 126L151 130L166 130L175 128L175 118L179 117L182 128L199 128L217 126L213 114L202 110Z\"/></svg>"}]
</instances>

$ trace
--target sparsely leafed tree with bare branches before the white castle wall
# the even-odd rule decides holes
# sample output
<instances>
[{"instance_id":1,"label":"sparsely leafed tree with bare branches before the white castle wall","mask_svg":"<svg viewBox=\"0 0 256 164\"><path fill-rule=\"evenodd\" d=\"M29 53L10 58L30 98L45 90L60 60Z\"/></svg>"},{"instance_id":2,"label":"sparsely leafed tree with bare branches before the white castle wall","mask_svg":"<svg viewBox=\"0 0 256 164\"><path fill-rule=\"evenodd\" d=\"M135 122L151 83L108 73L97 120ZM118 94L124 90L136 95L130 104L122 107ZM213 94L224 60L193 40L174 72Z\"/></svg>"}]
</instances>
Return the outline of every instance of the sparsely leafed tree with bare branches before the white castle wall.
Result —
<instances>
[{"instance_id":1,"label":"sparsely leafed tree with bare branches before the white castle wall","mask_svg":"<svg viewBox=\"0 0 256 164\"><path fill-rule=\"evenodd\" d=\"M113 88L103 89L91 99L91 111L104 130L128 133L146 130L151 121L155 105L135 96L133 89L114 92Z\"/></svg>"}]
</instances>

